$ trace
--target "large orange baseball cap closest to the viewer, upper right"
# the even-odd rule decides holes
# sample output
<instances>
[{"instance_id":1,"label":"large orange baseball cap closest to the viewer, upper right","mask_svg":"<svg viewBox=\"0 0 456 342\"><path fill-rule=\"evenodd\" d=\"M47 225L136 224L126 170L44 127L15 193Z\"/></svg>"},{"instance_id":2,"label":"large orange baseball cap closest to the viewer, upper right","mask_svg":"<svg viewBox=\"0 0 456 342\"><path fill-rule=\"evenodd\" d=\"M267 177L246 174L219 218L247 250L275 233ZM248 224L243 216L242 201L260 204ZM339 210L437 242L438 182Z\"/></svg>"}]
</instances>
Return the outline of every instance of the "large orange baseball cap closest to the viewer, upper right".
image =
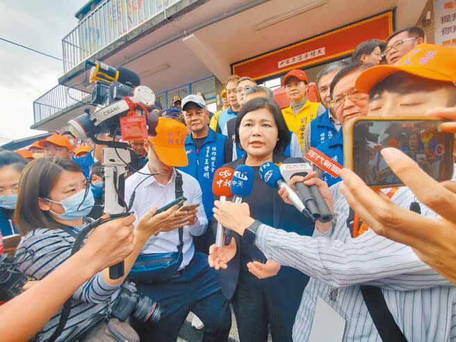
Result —
<instances>
[{"instance_id":1,"label":"large orange baseball cap closest to the viewer, upper right","mask_svg":"<svg viewBox=\"0 0 456 342\"><path fill-rule=\"evenodd\" d=\"M442 47L435 44L416 45L395 65L378 65L362 72L356 88L368 94L380 81L396 72L406 72L423 79L434 81L456 81L456 47Z\"/></svg>"}]
</instances>

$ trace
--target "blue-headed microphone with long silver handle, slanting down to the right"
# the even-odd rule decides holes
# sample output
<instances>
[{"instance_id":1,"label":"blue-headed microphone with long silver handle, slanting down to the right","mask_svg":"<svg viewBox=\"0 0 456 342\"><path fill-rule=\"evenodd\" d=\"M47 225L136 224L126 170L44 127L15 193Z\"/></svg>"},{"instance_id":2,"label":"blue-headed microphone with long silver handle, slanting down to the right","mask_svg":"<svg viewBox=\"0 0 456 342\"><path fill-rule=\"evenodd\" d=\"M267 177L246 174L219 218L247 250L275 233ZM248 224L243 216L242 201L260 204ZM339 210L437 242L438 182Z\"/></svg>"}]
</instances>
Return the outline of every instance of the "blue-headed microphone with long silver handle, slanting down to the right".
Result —
<instances>
[{"instance_id":1,"label":"blue-headed microphone with long silver handle, slanting down to the right","mask_svg":"<svg viewBox=\"0 0 456 342\"><path fill-rule=\"evenodd\" d=\"M291 203L293 203L293 206L295 206L300 213L303 213L308 218L313 220L312 215L309 211L307 211L299 195L295 192L295 190L293 190L293 188L291 188L291 186L288 185L288 183L286 183L286 181L284 181L282 174L280 174L280 169L277 165L275 165L275 163L269 161L263 163L260 167L259 174L261 180L268 184L268 186L280 189L286 188L286 191L288 192L288 199Z\"/></svg>"}]
</instances>

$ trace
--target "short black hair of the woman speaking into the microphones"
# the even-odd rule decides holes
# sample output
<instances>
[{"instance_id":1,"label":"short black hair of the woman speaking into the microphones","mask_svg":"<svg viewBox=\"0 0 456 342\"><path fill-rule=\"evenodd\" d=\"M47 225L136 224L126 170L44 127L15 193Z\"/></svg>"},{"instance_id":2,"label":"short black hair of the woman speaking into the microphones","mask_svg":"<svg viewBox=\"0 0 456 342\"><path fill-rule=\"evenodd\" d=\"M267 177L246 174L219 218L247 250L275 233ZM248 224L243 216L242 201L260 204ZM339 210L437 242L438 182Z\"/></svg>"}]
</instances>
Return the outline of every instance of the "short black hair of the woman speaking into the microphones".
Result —
<instances>
[{"instance_id":1,"label":"short black hair of the woman speaking into the microphones","mask_svg":"<svg viewBox=\"0 0 456 342\"><path fill-rule=\"evenodd\" d=\"M267 109L274 117L275 124L277 125L278 131L278 139L277 143L274 147L274 153L282 153L285 151L286 147L290 144L291 136L288 127L286 126L286 122L284 119L284 115L282 115L282 111L280 110L279 106L275 103L273 99L268 99L267 97L256 97L251 99L250 101L245 102L241 107L241 111L239 111L238 116L236 118L236 145L240 149L241 140L239 139L239 127L241 126L241 122L247 113L252 111L257 111L258 109Z\"/></svg>"}]
</instances>

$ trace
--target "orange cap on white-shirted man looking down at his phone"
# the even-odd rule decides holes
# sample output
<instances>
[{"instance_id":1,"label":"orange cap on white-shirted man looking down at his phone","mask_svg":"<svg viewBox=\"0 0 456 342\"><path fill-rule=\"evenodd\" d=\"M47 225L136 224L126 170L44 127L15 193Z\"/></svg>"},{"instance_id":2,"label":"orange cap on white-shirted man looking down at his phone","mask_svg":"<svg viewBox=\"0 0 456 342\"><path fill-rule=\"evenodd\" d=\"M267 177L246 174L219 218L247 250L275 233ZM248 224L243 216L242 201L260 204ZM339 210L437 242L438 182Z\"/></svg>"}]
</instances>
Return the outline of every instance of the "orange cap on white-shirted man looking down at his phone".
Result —
<instances>
[{"instance_id":1,"label":"orange cap on white-shirted man looking down at his phone","mask_svg":"<svg viewBox=\"0 0 456 342\"><path fill-rule=\"evenodd\" d=\"M188 158L185 150L186 125L168 117L158 117L155 131L156 136L149 137L148 140L154 145L158 158L169 166L187 166Z\"/></svg>"}]
</instances>

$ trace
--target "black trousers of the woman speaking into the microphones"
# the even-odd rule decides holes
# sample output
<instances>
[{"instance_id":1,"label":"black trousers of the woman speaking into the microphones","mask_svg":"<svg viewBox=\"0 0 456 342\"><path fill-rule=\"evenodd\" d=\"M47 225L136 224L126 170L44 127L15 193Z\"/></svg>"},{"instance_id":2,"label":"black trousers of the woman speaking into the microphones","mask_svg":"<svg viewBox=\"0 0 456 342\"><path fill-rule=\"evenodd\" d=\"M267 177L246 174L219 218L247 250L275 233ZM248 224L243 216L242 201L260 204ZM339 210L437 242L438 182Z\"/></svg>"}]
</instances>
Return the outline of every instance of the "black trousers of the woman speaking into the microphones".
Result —
<instances>
[{"instance_id":1,"label":"black trousers of the woman speaking into the microphones","mask_svg":"<svg viewBox=\"0 0 456 342\"><path fill-rule=\"evenodd\" d=\"M241 266L231 300L241 342L293 341L293 324L309 277L282 266L275 277L258 279Z\"/></svg>"}]
</instances>

